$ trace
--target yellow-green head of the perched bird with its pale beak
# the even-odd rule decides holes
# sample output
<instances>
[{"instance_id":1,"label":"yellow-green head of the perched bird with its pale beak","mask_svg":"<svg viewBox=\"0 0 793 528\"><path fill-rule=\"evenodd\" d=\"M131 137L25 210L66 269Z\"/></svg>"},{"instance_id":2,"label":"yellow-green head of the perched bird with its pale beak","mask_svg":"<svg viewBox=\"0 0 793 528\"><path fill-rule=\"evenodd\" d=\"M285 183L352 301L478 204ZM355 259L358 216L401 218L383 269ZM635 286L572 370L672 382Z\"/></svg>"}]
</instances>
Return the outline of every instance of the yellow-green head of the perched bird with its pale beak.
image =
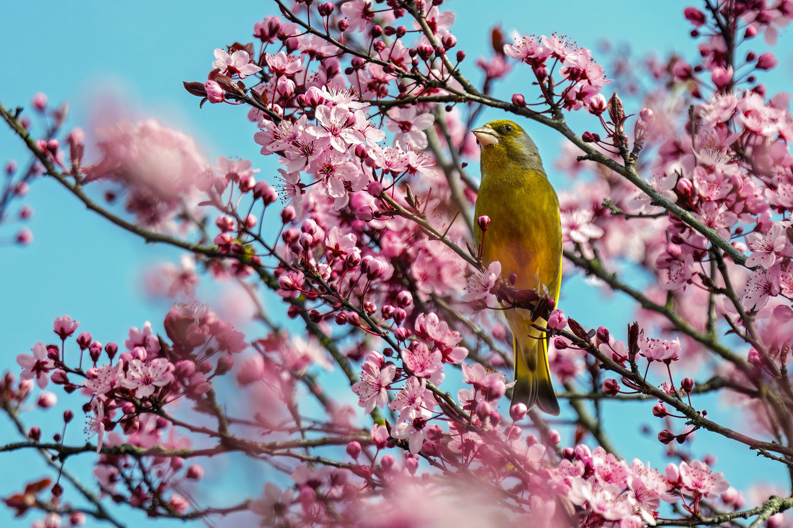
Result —
<instances>
[{"instance_id":1,"label":"yellow-green head of the perched bird with its pale beak","mask_svg":"<svg viewBox=\"0 0 793 528\"><path fill-rule=\"evenodd\" d=\"M472 132L482 148L483 161L514 163L526 168L542 167L537 146L519 124L509 120L491 121Z\"/></svg>"}]
</instances>

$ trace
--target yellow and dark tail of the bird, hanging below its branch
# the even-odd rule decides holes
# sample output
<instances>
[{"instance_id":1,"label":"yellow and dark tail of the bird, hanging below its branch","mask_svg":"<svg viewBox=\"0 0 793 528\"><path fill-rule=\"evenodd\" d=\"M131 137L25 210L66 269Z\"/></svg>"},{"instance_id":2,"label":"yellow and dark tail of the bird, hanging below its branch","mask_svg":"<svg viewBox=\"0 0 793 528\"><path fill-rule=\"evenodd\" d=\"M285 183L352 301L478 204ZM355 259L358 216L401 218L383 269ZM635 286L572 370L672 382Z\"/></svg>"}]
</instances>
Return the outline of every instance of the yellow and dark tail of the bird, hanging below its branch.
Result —
<instances>
[{"instance_id":1,"label":"yellow and dark tail of the bird, hanging below its branch","mask_svg":"<svg viewBox=\"0 0 793 528\"><path fill-rule=\"evenodd\" d=\"M523 332L516 332L515 330L518 329L512 328L514 335L512 342L515 348L515 386L512 387L512 404L523 403L530 409L536 405L546 414L559 416L559 402L550 381L548 340L525 319L516 326L523 327Z\"/></svg>"}]
</instances>

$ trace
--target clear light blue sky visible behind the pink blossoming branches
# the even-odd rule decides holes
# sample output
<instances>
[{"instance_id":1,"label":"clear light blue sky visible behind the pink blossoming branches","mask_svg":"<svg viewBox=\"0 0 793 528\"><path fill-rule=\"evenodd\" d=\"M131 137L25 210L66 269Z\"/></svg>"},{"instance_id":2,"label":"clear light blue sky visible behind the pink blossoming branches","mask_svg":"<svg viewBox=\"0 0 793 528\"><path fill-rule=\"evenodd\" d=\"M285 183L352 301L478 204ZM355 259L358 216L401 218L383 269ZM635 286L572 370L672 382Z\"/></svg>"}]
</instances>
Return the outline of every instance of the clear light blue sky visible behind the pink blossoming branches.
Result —
<instances>
[{"instance_id":1,"label":"clear light blue sky visible behind the pink blossoming branches","mask_svg":"<svg viewBox=\"0 0 793 528\"><path fill-rule=\"evenodd\" d=\"M651 49L665 54L677 49L691 55L695 47L688 38L690 26L681 15L689 3L459 0L444 6L458 13L453 29L458 47L468 53L466 62L471 72L476 57L489 53L488 28L498 23L506 30L516 28L524 34L559 32L591 48L607 37L614 42L629 42L638 54ZM259 147L252 141L254 129L244 112L227 105L208 105L199 110L197 98L186 93L182 81L205 78L213 49L235 40L249 40L253 23L276 13L274 4L241 0L224 8L218 2L196 0L190 2L189 9L186 6L185 2L150 0L6 4L3 17L13 23L4 25L0 32L0 67L5 73L0 82L0 101L6 107L27 105L33 93L42 91L53 103L69 101L69 123L86 127L94 101L110 95L192 133L210 158L234 155L252 159L254 166L262 169L259 176L272 182L273 161L259 155ZM771 93L791 82L790 44L784 34L777 47L780 66L767 75ZM498 93L506 98L511 93L525 93L522 82L523 78L513 75ZM487 116L483 116L483 123ZM529 131L550 165L561 137L533 123ZM17 140L0 127L0 161L9 158L23 163L27 159ZM561 177L552 178L557 186L565 186ZM130 326L143 325L144 321L159 328L168 305L141 294L140 271L151 262L177 260L177 252L145 245L103 221L80 207L54 181L36 181L26 203L36 211L29 223L35 237L33 245L0 248L0 370L17 371L14 358L18 353L29 351L38 340L52 340L52 321L64 313L82 321L81 329L94 333L103 343L123 340ZM10 227L0 228L0 237L12 233ZM630 320L629 302L617 296L604 302L600 291L585 286L580 279L565 285L564 294L563 302L571 306L566 311L585 325L621 329ZM711 410L719 403L707 401L706 405ZM661 446L638 434L642 424L651 424L646 404L611 404L605 410L607 417L626 413L637 416L637 421L617 431L615 443L620 450L665 465ZM59 428L59 412L36 416L36 421L42 417L45 424L50 420L45 432L52 435ZM657 424L651 425L657 430ZM12 439L15 437L5 424L0 426L0 443ZM71 427L67 440L82 443L82 426ZM706 448L717 453L721 461L717 469L737 485L762 477L785 485L779 467L754 458L716 435L700 433L694 446L696 454L703 454ZM752 472L746 471L746 461L752 462ZM240 493L259 493L265 476L240 462L214 467L208 473L213 503L232 503ZM78 465L72 465L72 469ZM0 496L17 489L19 475L33 478L46 474L44 466L29 454L0 454L0 468ZM224 479L222 474L231 469L242 473L231 472L234 478ZM82 477L90 483L89 475L83 473ZM123 512L128 515L128 511ZM149 524L143 516L128 519L134 526ZM0 526L29 526L30 520L11 520L10 512L0 509ZM89 526L95 525L89 521Z\"/></svg>"}]
</instances>

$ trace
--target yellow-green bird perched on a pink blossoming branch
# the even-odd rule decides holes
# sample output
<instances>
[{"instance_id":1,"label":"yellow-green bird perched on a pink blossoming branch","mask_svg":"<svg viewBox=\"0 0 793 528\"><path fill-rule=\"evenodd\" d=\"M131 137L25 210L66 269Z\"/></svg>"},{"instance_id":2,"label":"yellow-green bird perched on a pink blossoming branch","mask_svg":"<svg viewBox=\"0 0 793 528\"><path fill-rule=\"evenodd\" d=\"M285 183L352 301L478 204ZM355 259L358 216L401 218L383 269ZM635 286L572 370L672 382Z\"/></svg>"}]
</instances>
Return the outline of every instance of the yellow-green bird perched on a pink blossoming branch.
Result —
<instances>
[{"instance_id":1,"label":"yellow-green bird perched on a pink blossoming branch","mask_svg":"<svg viewBox=\"0 0 793 528\"><path fill-rule=\"evenodd\" d=\"M523 128L508 120L491 121L475 128L481 145L482 181L476 217L486 215L482 260L501 263L503 277L517 275L515 287L547 288L558 302L561 286L561 223L559 199L542 168L537 146ZM477 242L482 232L476 228ZM559 403L550 381L548 339L531 324L529 310L505 310L515 350L515 386L512 403L536 405L558 416Z\"/></svg>"}]
</instances>

